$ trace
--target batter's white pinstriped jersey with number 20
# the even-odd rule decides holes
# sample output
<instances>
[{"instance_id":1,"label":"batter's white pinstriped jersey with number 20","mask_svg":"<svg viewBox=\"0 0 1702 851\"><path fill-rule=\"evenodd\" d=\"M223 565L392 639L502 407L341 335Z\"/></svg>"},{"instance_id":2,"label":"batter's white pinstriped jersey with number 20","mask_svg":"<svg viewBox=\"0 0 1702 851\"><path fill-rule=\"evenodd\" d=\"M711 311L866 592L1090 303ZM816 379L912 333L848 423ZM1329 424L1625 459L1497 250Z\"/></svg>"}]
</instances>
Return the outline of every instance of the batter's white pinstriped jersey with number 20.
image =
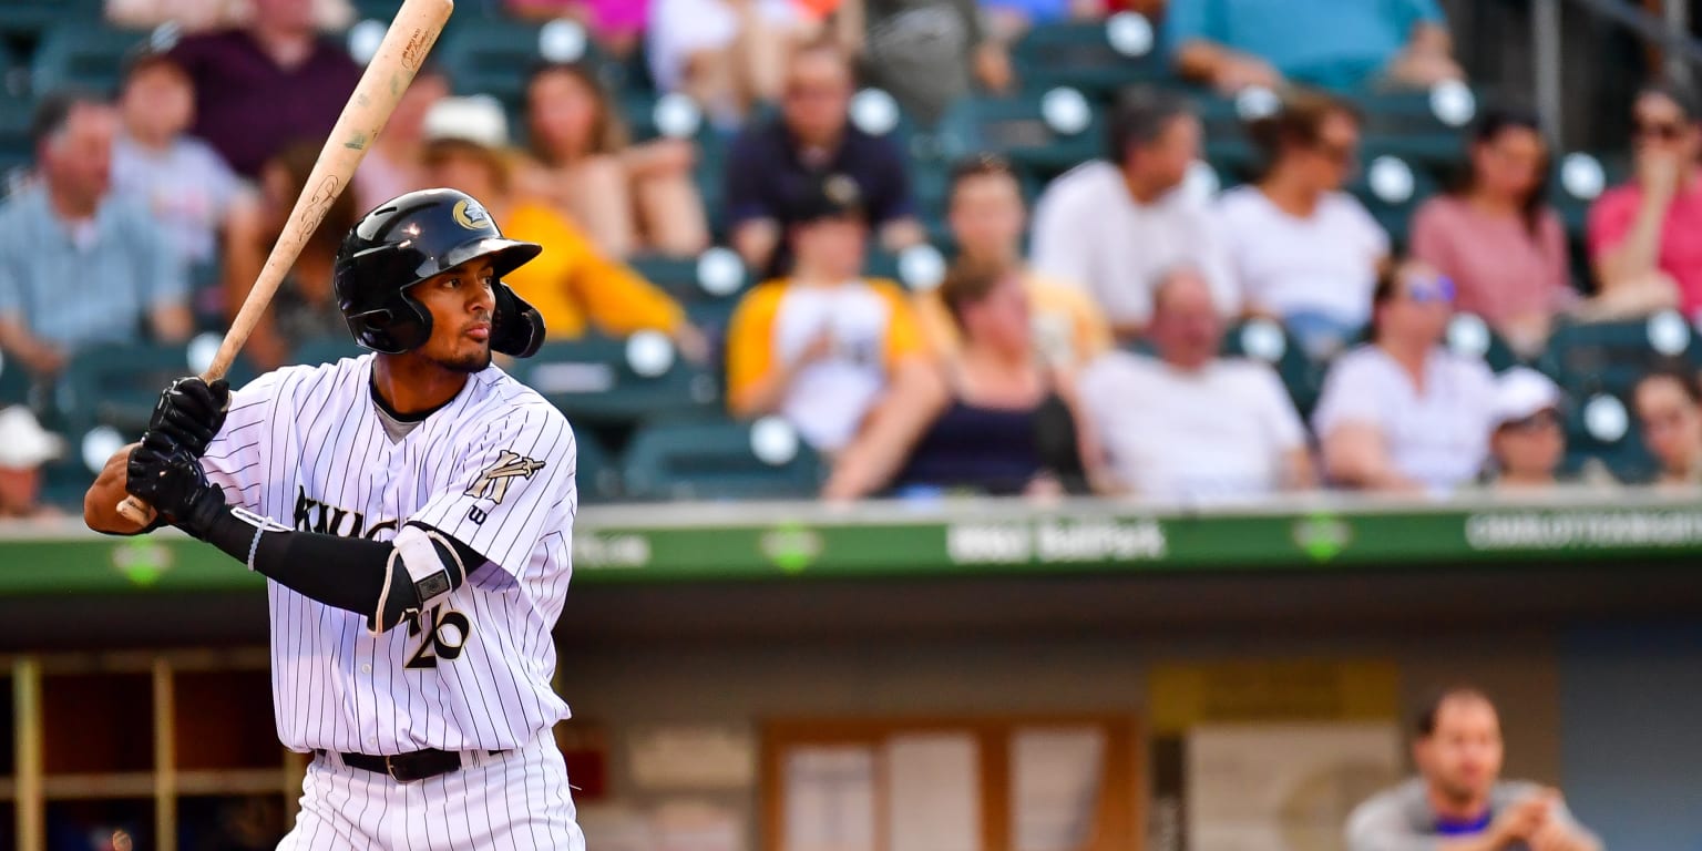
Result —
<instances>
[{"instance_id":1,"label":"batter's white pinstriped jersey with number 20","mask_svg":"<svg viewBox=\"0 0 1702 851\"><path fill-rule=\"evenodd\" d=\"M383 635L267 582L272 708L294 751L509 751L568 717L551 689L572 563L574 432L492 366L412 431L373 402L373 356L267 373L231 395L208 478L291 529L388 541L407 521L490 562Z\"/></svg>"}]
</instances>

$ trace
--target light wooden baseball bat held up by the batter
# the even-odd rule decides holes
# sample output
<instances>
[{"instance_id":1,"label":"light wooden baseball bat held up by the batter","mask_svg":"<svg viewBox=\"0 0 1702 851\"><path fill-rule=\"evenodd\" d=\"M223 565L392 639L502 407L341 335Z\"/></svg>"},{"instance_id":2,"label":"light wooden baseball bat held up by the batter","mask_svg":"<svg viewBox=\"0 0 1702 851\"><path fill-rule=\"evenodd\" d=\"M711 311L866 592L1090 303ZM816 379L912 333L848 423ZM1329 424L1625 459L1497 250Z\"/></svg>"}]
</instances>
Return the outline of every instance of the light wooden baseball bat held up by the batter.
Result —
<instances>
[{"instance_id":1,"label":"light wooden baseball bat held up by the batter","mask_svg":"<svg viewBox=\"0 0 1702 851\"><path fill-rule=\"evenodd\" d=\"M213 363L206 373L201 373L203 380L211 383L223 378L231 361L237 359L237 352L242 351L242 344L248 342L248 334L260 322L260 315L266 313L266 306L272 301L272 294L277 293L289 267L296 264L301 247L318 228L332 201L337 201L337 196L349 186L354 168L361 165L361 157L366 157L373 140L385 129L390 112L397 109L402 92L414 82L414 75L420 70L420 63L426 61L426 54L431 53L431 46L437 41L437 34L443 32L453 10L454 0L405 0L397 10L385 39L378 44L378 53L366 65L361 82L349 95L342 114L337 116L337 126L325 140L325 148L320 150L308 184L301 189L301 197L296 199L277 243L272 245L272 254L266 257L260 277L254 281L254 289L248 291L242 310L237 311L230 330L225 332L225 342L220 344ZM153 507L136 497L124 497L117 512L131 523L143 526L153 523Z\"/></svg>"}]
</instances>

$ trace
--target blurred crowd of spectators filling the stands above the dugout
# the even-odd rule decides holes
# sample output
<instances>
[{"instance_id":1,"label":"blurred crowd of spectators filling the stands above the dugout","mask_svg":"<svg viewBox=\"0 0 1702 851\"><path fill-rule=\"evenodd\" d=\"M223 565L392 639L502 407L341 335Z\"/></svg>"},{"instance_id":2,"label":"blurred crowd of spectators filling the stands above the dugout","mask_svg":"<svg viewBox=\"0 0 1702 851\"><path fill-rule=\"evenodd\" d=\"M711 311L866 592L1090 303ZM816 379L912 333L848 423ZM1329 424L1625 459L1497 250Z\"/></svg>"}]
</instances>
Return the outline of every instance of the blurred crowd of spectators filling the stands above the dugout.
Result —
<instances>
[{"instance_id":1,"label":"blurred crowd of spectators filling the stands above the dugout","mask_svg":"<svg viewBox=\"0 0 1702 851\"><path fill-rule=\"evenodd\" d=\"M917 186L931 177L853 121L860 85L919 123L968 92L1011 92L1008 46L1025 29L1127 7L509 0L504 14L577 20L611 61L689 95L727 138L720 174L696 179L691 138L633 141L618 92L587 63L529 68L512 128L499 100L451 95L453 68L427 66L247 357L267 369L346 334L332 293L342 233L381 199L441 184L545 245L509 284L553 339L660 332L723 371L730 415L797 429L829 465L825 499L1212 502L1615 482L1568 453L1583 400L1527 366L1496 374L1447 332L1471 313L1534 359L1559 325L1702 315L1702 111L1687 90L1636 97L1631 179L1588 213L1588 281L1573 279L1547 206L1549 145L1516 107L1482 111L1462 180L1425 201L1409 233L1385 231L1346 191L1363 119L1345 94L1464 78L1433 0L1311 0L1280 15L1237 0L1135 3L1162 14L1174 85L1111 97L1103 157L1043 186L1031 220L1035 175L985 153L957 162L926 209ZM359 77L332 36L354 19L342 0L109 0L107 12L186 34L126 56L111 97L41 94L34 167L0 206L0 352L36 385L97 344L221 327ZM1210 140L1186 94L1249 87L1280 95L1244 128L1258 167L1202 191L1190 175ZM637 267L715 243L761 281L723 323ZM938 288L866 274L871 257L924 243L953 255ZM1236 351L1232 330L1248 328L1328 364L1316 398ZM1631 407L1653 480L1695 487L1702 388L1671 366L1637 381ZM27 471L53 454L0 461ZM36 511L14 490L0 509Z\"/></svg>"}]
</instances>

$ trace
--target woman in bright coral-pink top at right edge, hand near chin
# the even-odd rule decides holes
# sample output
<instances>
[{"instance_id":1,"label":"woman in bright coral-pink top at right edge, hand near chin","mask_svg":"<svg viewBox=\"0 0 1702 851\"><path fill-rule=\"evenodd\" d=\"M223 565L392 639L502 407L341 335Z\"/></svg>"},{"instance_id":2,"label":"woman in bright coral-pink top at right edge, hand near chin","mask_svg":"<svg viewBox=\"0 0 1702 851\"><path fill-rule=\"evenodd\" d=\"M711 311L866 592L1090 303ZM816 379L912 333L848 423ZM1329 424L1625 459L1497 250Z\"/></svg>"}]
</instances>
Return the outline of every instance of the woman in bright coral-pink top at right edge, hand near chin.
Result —
<instances>
[{"instance_id":1,"label":"woman in bright coral-pink top at right edge, hand near chin","mask_svg":"<svg viewBox=\"0 0 1702 851\"><path fill-rule=\"evenodd\" d=\"M1590 260L1615 313L1680 306L1702 315L1702 126L1676 87L1644 89L1632 106L1636 175L1590 209Z\"/></svg>"}]
</instances>

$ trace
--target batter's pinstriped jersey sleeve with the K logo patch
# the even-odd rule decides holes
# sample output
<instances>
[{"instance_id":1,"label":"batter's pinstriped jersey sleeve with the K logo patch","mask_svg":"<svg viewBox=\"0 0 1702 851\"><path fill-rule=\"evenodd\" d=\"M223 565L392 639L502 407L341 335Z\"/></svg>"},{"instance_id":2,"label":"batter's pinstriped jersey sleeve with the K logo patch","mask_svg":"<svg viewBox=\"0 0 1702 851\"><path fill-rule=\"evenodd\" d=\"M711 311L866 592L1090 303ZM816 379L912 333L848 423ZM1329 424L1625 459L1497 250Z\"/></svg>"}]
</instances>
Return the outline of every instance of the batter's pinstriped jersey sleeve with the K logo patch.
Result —
<instances>
[{"instance_id":1,"label":"batter's pinstriped jersey sleeve with the K logo patch","mask_svg":"<svg viewBox=\"0 0 1702 851\"><path fill-rule=\"evenodd\" d=\"M449 475L408 521L431 526L511 575L526 570L533 548L557 531L565 504L577 509L574 431L560 412L523 405L453 453Z\"/></svg>"}]
</instances>

